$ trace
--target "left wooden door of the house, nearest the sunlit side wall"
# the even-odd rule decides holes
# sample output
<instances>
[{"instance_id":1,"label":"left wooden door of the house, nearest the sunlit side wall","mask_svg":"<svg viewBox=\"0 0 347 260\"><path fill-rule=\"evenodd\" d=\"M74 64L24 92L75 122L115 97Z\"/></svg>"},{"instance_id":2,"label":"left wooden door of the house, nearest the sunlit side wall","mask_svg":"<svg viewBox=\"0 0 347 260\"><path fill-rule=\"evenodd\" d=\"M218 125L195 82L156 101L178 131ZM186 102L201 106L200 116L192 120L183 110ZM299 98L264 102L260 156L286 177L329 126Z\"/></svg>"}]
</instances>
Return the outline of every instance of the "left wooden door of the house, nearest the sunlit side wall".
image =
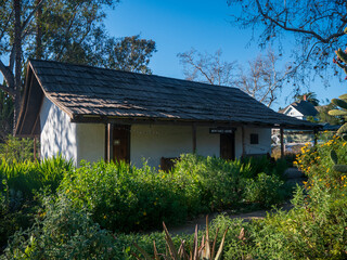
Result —
<instances>
[{"instance_id":1,"label":"left wooden door of the house, nearest the sunlit side wall","mask_svg":"<svg viewBox=\"0 0 347 260\"><path fill-rule=\"evenodd\" d=\"M128 126L114 126L113 159L130 162L130 127Z\"/></svg>"}]
</instances>

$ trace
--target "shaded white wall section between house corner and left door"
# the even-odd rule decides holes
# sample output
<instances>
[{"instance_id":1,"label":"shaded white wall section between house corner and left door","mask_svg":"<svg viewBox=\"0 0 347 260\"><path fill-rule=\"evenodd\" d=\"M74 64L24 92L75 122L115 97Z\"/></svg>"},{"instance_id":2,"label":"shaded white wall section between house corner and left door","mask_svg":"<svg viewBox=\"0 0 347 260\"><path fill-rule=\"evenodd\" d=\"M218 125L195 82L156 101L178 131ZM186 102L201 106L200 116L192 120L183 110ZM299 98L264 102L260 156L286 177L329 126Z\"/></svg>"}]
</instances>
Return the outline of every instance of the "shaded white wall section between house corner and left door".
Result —
<instances>
[{"instance_id":1,"label":"shaded white wall section between house corner and left door","mask_svg":"<svg viewBox=\"0 0 347 260\"><path fill-rule=\"evenodd\" d=\"M77 123L77 164L98 161L105 157L105 125Z\"/></svg>"}]
</instances>

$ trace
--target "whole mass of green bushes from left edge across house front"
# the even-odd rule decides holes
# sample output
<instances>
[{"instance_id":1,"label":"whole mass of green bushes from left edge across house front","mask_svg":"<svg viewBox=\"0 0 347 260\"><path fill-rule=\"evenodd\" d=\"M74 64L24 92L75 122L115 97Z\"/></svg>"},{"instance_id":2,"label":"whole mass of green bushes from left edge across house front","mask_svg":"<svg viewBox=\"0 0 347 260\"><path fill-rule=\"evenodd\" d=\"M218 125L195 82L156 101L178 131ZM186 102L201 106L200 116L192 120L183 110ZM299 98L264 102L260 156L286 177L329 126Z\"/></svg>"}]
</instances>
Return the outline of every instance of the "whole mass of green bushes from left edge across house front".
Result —
<instances>
[{"instance_id":1,"label":"whole mass of green bushes from left edge across house front","mask_svg":"<svg viewBox=\"0 0 347 260\"><path fill-rule=\"evenodd\" d=\"M81 246L87 252L104 250L102 240L110 243L110 234L102 233L99 225L112 232L141 231L160 227L163 221L172 225L184 222L188 217L236 208L242 204L269 206L270 203L264 200L268 198L254 200L248 197L258 192L257 188L250 188L247 196L244 191L258 172L267 172L262 173L267 180L278 180L283 170L283 164L272 164L264 158L226 161L196 155L182 155L171 172L157 171L146 165L136 168L124 162L104 161L86 162L75 168L60 157L41 162L3 160L0 164L3 181L0 246L22 229L24 232L16 233L8 247L8 256L29 252L30 256L42 256L38 258L68 258L74 256L69 253L75 253L69 250L74 245L89 245L89 242L94 246ZM262 185L267 184L270 182L260 183L260 193L265 191ZM52 194L50 202L54 203L46 202L42 206L36 198L37 192L42 190ZM278 204L282 200L271 202ZM50 234L49 230L54 233ZM118 251L129 251L132 238L128 235L117 237L113 245L123 245L120 249L117 246ZM146 240L138 238L139 244ZM159 248L160 245L165 246L165 243L158 243ZM144 242L142 246L152 247Z\"/></svg>"}]
</instances>

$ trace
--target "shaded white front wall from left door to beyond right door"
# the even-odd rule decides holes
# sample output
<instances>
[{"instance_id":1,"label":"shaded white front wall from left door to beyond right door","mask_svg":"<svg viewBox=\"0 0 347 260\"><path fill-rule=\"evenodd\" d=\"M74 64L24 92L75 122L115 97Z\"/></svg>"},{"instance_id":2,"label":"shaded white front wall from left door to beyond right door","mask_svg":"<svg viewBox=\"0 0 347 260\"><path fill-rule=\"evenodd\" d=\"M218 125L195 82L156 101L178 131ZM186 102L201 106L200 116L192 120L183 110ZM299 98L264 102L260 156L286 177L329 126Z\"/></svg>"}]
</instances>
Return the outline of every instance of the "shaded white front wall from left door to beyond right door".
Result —
<instances>
[{"instance_id":1,"label":"shaded white front wall from left door to beyond right door","mask_svg":"<svg viewBox=\"0 0 347 260\"><path fill-rule=\"evenodd\" d=\"M250 133L259 135L259 144L250 144ZM245 128L246 154L271 153L271 129ZM131 126L130 160L142 166L145 158L151 167L158 167L162 157L178 157L193 152L192 127L185 126ZM203 156L220 155L220 135L209 133L209 127L196 128L196 153ZM242 155L242 131L235 131L235 156Z\"/></svg>"}]
</instances>

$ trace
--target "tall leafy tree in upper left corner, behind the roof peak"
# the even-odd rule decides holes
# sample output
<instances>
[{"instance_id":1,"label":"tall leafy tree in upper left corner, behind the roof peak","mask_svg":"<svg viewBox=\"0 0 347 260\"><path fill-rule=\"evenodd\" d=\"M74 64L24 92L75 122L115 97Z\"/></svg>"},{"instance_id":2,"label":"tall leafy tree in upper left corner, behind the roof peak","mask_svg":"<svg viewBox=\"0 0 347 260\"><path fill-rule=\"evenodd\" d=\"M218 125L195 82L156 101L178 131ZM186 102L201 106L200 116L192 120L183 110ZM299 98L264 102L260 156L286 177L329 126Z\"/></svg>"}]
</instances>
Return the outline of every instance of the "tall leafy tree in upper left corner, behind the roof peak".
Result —
<instances>
[{"instance_id":1,"label":"tall leafy tree in upper left corner, behind the roof peak","mask_svg":"<svg viewBox=\"0 0 347 260\"><path fill-rule=\"evenodd\" d=\"M0 84L0 89L13 98L14 118L16 118L21 106L22 65L25 57L35 54L36 48L33 47L33 42L36 42L35 38L38 39L37 42L40 42L38 47L42 48L42 50L38 50L37 55L44 56L44 51L46 56L50 55L50 53L53 53L50 48L52 46L62 52L67 41L82 42L83 37L95 29L98 23L105 16L103 6L113 5L113 1L0 0L0 72L5 80L4 84ZM64 12L64 14L59 13L59 11ZM46 23L41 23L39 21L41 15L42 18L54 16L61 20L50 21L51 23L43 21ZM44 26L44 28L41 26ZM48 29L50 27L55 27L55 29L59 27L65 32L62 34L62 41L60 41L60 38L51 38L52 30ZM44 30L42 36L39 34L41 29ZM72 34L73 31L75 34ZM77 31L79 35L77 35ZM40 37L42 37L41 40L39 40ZM48 42L48 39L50 39L50 42ZM46 46L43 46L44 43ZM5 65L5 62L8 62L8 65Z\"/></svg>"}]
</instances>

